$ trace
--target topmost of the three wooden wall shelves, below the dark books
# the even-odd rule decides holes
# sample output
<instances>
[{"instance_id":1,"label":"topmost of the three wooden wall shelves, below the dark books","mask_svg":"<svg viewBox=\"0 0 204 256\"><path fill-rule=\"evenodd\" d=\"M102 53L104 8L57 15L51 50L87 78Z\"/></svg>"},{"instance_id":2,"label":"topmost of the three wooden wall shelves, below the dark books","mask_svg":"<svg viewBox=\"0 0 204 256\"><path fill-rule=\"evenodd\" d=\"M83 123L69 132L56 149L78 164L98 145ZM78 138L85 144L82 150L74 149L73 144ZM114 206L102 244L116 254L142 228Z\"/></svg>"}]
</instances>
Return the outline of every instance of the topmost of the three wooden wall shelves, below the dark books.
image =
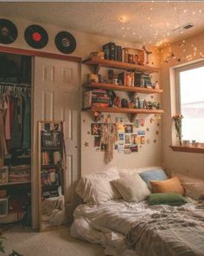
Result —
<instances>
[{"instance_id":1,"label":"topmost of the three wooden wall shelves, below the dark books","mask_svg":"<svg viewBox=\"0 0 204 256\"><path fill-rule=\"evenodd\" d=\"M84 60L83 63L96 66L96 73L99 72L99 69L101 67L131 70L131 71L146 72L146 73L159 72L159 69L155 67L131 64L126 62L116 62L111 60L100 59L97 57L88 58Z\"/></svg>"}]
</instances>

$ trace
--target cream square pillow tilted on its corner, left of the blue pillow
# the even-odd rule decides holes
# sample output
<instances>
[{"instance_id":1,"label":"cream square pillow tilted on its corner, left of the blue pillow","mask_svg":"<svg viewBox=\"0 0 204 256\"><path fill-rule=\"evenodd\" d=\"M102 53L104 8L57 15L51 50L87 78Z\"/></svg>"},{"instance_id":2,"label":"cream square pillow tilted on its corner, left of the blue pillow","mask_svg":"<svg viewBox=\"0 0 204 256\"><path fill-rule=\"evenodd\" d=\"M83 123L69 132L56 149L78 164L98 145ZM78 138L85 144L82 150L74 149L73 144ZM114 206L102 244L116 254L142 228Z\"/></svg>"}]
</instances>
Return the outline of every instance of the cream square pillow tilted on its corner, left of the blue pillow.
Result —
<instances>
[{"instance_id":1,"label":"cream square pillow tilted on its corner, left of the blue pillow","mask_svg":"<svg viewBox=\"0 0 204 256\"><path fill-rule=\"evenodd\" d=\"M150 190L139 174L126 175L123 178L112 181L112 184L126 201L138 203L150 194Z\"/></svg>"}]
</instances>

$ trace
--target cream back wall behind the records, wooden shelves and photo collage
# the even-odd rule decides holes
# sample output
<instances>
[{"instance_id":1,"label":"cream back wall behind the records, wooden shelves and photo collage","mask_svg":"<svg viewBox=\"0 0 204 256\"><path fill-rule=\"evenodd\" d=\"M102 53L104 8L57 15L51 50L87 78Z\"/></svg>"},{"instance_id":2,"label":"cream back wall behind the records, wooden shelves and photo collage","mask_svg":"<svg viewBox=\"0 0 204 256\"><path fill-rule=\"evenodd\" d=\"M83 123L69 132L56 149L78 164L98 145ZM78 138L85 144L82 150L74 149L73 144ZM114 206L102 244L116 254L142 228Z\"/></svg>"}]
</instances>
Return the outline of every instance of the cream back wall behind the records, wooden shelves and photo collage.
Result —
<instances>
[{"instance_id":1,"label":"cream back wall behind the records, wooden shelves and photo collage","mask_svg":"<svg viewBox=\"0 0 204 256\"><path fill-rule=\"evenodd\" d=\"M10 44L10 47L16 47L20 49L32 49L23 39L24 30L30 25L34 24L31 21L24 21L19 19L8 18L14 23L18 29L18 38L15 43ZM115 42L123 47L142 48L142 45L133 43L127 43L124 41L113 40L104 36L94 36L80 31L69 30L67 28L58 28L50 26L48 24L40 24L48 31L49 42L42 51L52 52L61 54L54 45L54 36L61 30L68 30L75 36L77 42L77 49L71 54L72 56L81 56L83 59L89 56L89 53L95 50L101 49L101 46L108 42ZM121 35L122 37L122 35ZM154 62L154 65L158 66L158 56L156 53L151 55L150 62ZM81 67L81 84L86 82L86 75L92 72L92 68L82 65ZM159 75L155 75L153 82L159 80ZM127 96L127 95L126 95ZM145 95L147 96L147 95ZM144 97L144 95L143 95ZM151 95L148 98L152 100ZM154 101L159 101L158 95L153 95ZM79 100L79 99L76 99ZM107 115L105 115L106 117ZM112 121L115 121L115 117L124 117L126 123L130 123L127 115L111 115ZM145 127L142 129L148 129L146 131L145 144L139 147L138 153L124 154L114 151L113 160L106 165L104 162L104 153L97 152L96 148L93 147L94 137L90 135L92 115L87 112L81 113L81 175L89 174L99 170L105 170L108 167L117 166L120 168L124 167L146 167L155 166L161 164L161 128L162 121L155 115L138 115L138 118L145 120Z\"/></svg>"}]
</instances>

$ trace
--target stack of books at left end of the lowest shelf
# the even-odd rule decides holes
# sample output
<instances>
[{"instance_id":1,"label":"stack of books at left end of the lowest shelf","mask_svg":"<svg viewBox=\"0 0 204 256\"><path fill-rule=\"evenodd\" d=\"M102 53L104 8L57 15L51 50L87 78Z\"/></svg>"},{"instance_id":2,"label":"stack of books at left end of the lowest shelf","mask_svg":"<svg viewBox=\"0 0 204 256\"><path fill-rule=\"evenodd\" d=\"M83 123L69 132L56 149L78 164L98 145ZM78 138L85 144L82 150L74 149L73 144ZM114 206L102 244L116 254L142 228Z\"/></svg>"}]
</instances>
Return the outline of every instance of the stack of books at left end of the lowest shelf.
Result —
<instances>
[{"instance_id":1,"label":"stack of books at left end of the lowest shelf","mask_svg":"<svg viewBox=\"0 0 204 256\"><path fill-rule=\"evenodd\" d=\"M85 93L84 108L109 106L110 98L104 89L93 89Z\"/></svg>"}]
</instances>

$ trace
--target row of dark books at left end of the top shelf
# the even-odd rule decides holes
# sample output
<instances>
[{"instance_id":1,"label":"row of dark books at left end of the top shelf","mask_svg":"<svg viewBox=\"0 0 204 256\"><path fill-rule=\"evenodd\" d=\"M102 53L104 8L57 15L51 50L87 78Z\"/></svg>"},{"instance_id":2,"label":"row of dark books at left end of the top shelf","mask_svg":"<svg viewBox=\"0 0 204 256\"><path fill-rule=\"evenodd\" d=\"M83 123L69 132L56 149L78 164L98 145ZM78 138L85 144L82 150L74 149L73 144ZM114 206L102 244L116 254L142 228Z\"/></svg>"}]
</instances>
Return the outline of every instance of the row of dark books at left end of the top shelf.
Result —
<instances>
[{"instance_id":1,"label":"row of dark books at left end of the top shelf","mask_svg":"<svg viewBox=\"0 0 204 256\"><path fill-rule=\"evenodd\" d=\"M106 60L112 60L117 62L123 61L123 49L121 46L115 43L106 43L103 45L103 51Z\"/></svg>"}]
</instances>

